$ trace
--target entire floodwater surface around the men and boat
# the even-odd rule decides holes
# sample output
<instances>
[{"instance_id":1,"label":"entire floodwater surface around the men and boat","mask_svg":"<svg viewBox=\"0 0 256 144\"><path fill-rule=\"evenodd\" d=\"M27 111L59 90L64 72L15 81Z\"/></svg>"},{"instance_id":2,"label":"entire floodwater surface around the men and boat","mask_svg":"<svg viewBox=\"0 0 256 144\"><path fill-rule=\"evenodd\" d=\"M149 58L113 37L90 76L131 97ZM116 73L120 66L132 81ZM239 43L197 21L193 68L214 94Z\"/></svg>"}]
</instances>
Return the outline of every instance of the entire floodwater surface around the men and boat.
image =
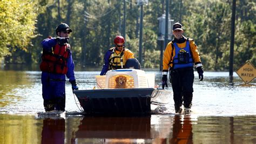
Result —
<instances>
[{"instance_id":1,"label":"entire floodwater surface around the men and boat","mask_svg":"<svg viewBox=\"0 0 256 144\"><path fill-rule=\"evenodd\" d=\"M161 72L156 75L161 85ZM80 90L96 86L99 71L77 71ZM191 114L174 114L173 99L148 116L84 116L66 82L66 114L44 113L41 72L0 70L0 143L256 143L256 80L234 73L195 74ZM172 91L171 84L167 90Z\"/></svg>"}]
</instances>

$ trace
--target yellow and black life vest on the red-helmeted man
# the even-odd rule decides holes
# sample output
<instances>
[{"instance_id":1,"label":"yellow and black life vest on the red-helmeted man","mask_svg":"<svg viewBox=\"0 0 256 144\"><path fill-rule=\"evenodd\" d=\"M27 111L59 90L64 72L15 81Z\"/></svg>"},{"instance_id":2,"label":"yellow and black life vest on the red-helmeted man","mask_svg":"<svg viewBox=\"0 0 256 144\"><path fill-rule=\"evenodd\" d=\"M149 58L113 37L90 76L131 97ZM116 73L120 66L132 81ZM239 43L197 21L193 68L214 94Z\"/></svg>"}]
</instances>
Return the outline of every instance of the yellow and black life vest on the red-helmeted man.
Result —
<instances>
[{"instance_id":1,"label":"yellow and black life vest on the red-helmeted man","mask_svg":"<svg viewBox=\"0 0 256 144\"><path fill-rule=\"evenodd\" d=\"M109 49L109 51L111 51L111 56L109 58L109 70L117 70L117 69L125 68L124 67L126 63L126 58L124 57L125 48L123 49L122 52L118 54L115 51L115 47L112 47L111 49Z\"/></svg>"}]
</instances>

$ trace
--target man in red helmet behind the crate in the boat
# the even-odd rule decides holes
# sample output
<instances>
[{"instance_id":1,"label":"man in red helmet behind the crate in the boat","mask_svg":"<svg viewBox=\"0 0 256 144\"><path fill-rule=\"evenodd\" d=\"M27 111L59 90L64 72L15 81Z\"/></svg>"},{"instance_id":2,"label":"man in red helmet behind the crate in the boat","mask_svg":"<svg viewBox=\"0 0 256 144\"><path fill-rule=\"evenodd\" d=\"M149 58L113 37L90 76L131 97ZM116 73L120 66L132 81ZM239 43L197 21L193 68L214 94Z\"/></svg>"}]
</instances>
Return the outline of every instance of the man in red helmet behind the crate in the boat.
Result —
<instances>
[{"instance_id":1,"label":"man in red helmet behind the crate in the boat","mask_svg":"<svg viewBox=\"0 0 256 144\"><path fill-rule=\"evenodd\" d=\"M124 46L124 43L124 37L116 36L116 38L114 38L115 47L110 48L106 52L104 57L105 63L102 72L100 72L100 76L105 75L109 70L125 68L126 60L134 58L134 54Z\"/></svg>"}]
</instances>

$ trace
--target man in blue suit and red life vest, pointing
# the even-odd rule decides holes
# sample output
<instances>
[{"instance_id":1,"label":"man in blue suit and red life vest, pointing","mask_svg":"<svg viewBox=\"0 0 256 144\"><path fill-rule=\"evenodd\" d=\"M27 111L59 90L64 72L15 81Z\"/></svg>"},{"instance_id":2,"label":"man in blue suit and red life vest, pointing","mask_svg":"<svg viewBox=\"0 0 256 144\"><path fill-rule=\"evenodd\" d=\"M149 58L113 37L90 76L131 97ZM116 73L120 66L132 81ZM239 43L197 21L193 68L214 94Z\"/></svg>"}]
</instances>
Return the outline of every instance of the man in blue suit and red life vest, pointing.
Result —
<instances>
[{"instance_id":1,"label":"man in blue suit and red life vest, pointing","mask_svg":"<svg viewBox=\"0 0 256 144\"><path fill-rule=\"evenodd\" d=\"M49 111L65 111L65 76L69 78L72 90L78 90L76 83L69 34L72 30L68 24L61 23L56 28L57 37L46 38L43 45L42 86L44 109Z\"/></svg>"}]
</instances>

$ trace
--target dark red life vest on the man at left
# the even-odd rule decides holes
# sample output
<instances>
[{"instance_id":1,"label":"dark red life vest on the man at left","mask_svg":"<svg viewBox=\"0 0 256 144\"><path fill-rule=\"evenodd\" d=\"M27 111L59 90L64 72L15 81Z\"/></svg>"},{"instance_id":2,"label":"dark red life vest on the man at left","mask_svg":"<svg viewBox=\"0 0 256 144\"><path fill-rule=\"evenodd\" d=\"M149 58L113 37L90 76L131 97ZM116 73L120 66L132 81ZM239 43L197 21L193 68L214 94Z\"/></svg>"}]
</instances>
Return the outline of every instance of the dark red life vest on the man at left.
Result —
<instances>
[{"instance_id":1,"label":"dark red life vest on the man at left","mask_svg":"<svg viewBox=\"0 0 256 144\"><path fill-rule=\"evenodd\" d=\"M68 72L67 59L70 56L70 45L55 45L52 52L43 51L40 69L43 72L66 74Z\"/></svg>"}]
</instances>

